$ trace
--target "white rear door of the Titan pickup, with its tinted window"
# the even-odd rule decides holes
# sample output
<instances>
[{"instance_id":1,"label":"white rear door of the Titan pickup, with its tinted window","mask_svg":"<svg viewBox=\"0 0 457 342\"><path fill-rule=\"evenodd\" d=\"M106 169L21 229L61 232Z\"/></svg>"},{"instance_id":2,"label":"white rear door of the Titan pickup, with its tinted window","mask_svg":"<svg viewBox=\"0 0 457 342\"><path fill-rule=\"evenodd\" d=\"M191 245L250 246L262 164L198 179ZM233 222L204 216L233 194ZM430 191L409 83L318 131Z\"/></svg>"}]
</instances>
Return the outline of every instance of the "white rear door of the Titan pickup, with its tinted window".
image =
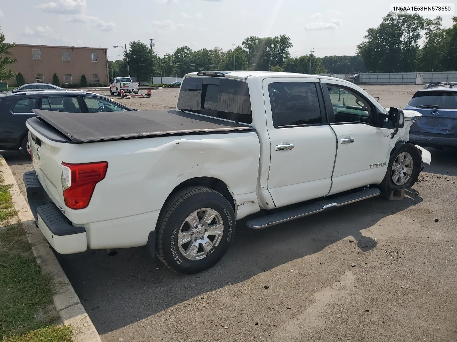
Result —
<instances>
[{"instance_id":1,"label":"white rear door of the Titan pickup, with its tinted window","mask_svg":"<svg viewBox=\"0 0 457 342\"><path fill-rule=\"evenodd\" d=\"M319 79L266 78L263 90L271 149L268 190L275 206L327 195L336 141Z\"/></svg>"}]
</instances>

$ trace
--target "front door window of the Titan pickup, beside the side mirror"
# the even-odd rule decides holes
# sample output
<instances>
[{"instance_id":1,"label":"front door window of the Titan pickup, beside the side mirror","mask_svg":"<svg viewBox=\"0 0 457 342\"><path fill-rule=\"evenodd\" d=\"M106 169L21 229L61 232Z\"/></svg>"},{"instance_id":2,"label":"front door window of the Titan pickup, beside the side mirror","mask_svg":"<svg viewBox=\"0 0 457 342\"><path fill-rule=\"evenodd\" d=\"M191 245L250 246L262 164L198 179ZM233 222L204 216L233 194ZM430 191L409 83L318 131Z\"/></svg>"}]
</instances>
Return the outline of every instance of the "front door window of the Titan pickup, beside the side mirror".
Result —
<instances>
[{"instance_id":1,"label":"front door window of the Titan pickup, beside the side mirror","mask_svg":"<svg viewBox=\"0 0 457 342\"><path fill-rule=\"evenodd\" d=\"M365 122L376 124L372 109L366 100L355 92L336 85L327 85L335 122Z\"/></svg>"}]
</instances>

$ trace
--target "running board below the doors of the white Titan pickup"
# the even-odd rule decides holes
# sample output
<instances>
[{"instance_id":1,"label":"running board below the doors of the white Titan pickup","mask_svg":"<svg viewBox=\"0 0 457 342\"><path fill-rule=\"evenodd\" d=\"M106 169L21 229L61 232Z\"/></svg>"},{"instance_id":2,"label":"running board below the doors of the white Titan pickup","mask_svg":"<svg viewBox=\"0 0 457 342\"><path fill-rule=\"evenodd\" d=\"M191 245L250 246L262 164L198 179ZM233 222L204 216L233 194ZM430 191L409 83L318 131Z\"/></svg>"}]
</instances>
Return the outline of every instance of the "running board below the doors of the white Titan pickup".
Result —
<instances>
[{"instance_id":1,"label":"running board below the doors of the white Titan pickup","mask_svg":"<svg viewBox=\"0 0 457 342\"><path fill-rule=\"evenodd\" d=\"M253 218L246 222L246 226L253 229L261 229L273 226L275 224L284 223L287 221L295 220L296 218L303 218L308 215L313 215L318 212L323 212L329 208L342 207L346 204L358 202L367 198L375 197L381 194L377 188L371 188L354 192L348 195L324 200L313 204L308 204L303 207L289 209L283 212L277 212L272 215L262 216L260 218Z\"/></svg>"}]
</instances>

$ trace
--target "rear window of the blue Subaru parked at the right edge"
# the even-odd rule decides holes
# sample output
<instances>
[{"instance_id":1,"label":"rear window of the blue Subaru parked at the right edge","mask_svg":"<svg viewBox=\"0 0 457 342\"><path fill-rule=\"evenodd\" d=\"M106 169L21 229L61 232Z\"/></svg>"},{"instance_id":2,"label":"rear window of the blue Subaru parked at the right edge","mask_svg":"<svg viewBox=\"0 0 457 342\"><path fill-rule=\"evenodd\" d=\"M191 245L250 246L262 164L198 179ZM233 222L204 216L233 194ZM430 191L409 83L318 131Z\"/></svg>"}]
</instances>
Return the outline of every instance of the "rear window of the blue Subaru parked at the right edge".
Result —
<instances>
[{"instance_id":1,"label":"rear window of the blue Subaru parked at the right edge","mask_svg":"<svg viewBox=\"0 0 457 342\"><path fill-rule=\"evenodd\" d=\"M425 109L457 109L457 91L419 91L408 105Z\"/></svg>"}]
</instances>

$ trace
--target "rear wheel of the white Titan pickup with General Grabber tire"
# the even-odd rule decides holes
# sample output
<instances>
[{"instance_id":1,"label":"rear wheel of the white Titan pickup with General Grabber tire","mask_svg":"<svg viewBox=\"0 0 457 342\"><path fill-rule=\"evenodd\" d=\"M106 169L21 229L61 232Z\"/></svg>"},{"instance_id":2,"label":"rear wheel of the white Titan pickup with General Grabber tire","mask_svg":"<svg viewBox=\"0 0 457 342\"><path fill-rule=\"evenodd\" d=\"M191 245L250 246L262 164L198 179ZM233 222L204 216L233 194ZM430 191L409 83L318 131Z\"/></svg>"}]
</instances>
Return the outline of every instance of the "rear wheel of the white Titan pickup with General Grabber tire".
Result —
<instances>
[{"instance_id":1,"label":"rear wheel of the white Titan pickup with General Grabber tire","mask_svg":"<svg viewBox=\"0 0 457 342\"><path fill-rule=\"evenodd\" d=\"M227 198L207 187L187 187L165 203L157 222L157 255L175 272L191 274L216 264L235 233Z\"/></svg>"}]
</instances>

